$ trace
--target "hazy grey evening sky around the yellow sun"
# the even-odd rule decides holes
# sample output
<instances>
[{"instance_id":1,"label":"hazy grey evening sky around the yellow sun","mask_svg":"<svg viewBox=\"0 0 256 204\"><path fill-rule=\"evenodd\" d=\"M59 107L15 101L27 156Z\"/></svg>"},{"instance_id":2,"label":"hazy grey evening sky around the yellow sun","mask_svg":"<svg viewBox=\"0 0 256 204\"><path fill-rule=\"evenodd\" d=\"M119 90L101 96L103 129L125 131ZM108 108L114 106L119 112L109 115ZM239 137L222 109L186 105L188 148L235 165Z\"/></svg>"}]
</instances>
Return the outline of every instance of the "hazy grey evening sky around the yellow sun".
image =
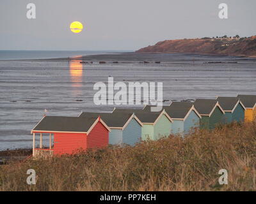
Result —
<instances>
[{"instance_id":1,"label":"hazy grey evening sky around the yellow sun","mask_svg":"<svg viewBox=\"0 0 256 204\"><path fill-rule=\"evenodd\" d=\"M28 19L27 4L36 6ZM228 19L220 19L220 3ZM256 35L255 0L1 0L0 50L138 50L157 41ZM83 24L72 33L70 23Z\"/></svg>"}]
</instances>

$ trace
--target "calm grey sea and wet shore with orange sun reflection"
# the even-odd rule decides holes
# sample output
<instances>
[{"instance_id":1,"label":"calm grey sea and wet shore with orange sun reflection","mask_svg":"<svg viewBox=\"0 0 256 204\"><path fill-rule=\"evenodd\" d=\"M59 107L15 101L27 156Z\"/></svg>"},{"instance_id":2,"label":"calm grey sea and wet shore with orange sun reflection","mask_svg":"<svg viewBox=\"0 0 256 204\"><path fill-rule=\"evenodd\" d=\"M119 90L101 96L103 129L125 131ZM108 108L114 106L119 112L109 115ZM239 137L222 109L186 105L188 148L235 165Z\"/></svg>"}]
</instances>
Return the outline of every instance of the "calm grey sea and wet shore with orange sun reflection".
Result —
<instances>
[{"instance_id":1,"label":"calm grey sea and wet shore with orange sun reflection","mask_svg":"<svg viewBox=\"0 0 256 204\"><path fill-rule=\"evenodd\" d=\"M0 54L3 59L3 52ZM112 110L113 105L93 103L96 92L93 85L108 81L109 76L115 82L163 82L163 97L169 100L166 104L171 100L256 94L255 59L188 54L88 54L95 53L74 55L87 55L82 60L93 64L81 64L78 59L0 61L0 150L31 147L30 131L42 119L45 109L47 115L67 116L77 116L82 110ZM44 56L32 58L48 58ZM161 64L143 61L161 61ZM214 61L225 63L205 63ZM44 137L45 145L47 139Z\"/></svg>"}]
</instances>

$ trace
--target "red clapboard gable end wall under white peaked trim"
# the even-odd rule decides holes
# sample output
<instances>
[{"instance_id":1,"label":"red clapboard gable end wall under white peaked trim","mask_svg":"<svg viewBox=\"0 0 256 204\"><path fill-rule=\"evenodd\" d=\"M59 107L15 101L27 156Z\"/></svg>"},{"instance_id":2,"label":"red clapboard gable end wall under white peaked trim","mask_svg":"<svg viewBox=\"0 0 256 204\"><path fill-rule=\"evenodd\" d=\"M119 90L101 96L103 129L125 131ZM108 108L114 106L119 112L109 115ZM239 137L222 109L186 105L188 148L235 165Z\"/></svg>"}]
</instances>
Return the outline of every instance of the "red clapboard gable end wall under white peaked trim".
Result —
<instances>
[{"instance_id":1,"label":"red clapboard gable end wall under white peaked trim","mask_svg":"<svg viewBox=\"0 0 256 204\"><path fill-rule=\"evenodd\" d=\"M101 122L93 127L87 136L87 149L108 147L109 132Z\"/></svg>"}]
</instances>

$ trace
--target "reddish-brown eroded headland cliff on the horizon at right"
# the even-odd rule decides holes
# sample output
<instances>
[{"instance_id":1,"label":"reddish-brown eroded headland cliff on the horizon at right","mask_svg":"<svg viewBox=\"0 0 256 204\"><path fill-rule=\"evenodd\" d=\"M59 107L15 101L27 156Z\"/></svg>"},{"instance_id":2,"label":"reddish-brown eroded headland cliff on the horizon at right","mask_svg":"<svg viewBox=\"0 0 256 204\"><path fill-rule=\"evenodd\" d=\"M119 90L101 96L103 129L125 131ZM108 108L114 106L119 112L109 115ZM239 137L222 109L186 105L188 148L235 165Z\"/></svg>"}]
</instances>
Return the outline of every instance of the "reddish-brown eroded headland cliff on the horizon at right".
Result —
<instances>
[{"instance_id":1,"label":"reddish-brown eroded headland cliff on the horizon at right","mask_svg":"<svg viewBox=\"0 0 256 204\"><path fill-rule=\"evenodd\" d=\"M250 38L207 38L165 40L136 52L181 52L256 57L256 36Z\"/></svg>"}]
</instances>

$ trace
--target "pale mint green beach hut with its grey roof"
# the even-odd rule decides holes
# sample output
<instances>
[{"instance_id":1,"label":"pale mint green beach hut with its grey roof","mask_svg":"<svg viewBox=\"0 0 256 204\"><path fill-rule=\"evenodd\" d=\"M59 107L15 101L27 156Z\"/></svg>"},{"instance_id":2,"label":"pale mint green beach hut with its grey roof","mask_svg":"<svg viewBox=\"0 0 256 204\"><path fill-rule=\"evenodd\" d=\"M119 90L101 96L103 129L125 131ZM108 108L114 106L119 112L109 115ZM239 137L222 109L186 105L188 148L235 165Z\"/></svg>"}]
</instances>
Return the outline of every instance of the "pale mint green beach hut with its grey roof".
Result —
<instances>
[{"instance_id":1,"label":"pale mint green beach hut with its grey roof","mask_svg":"<svg viewBox=\"0 0 256 204\"><path fill-rule=\"evenodd\" d=\"M170 127L173 120L164 110L162 112L144 112L143 110L118 108L113 110L113 113L124 112L134 112L142 122L141 140L158 140L170 135Z\"/></svg>"}]
</instances>

